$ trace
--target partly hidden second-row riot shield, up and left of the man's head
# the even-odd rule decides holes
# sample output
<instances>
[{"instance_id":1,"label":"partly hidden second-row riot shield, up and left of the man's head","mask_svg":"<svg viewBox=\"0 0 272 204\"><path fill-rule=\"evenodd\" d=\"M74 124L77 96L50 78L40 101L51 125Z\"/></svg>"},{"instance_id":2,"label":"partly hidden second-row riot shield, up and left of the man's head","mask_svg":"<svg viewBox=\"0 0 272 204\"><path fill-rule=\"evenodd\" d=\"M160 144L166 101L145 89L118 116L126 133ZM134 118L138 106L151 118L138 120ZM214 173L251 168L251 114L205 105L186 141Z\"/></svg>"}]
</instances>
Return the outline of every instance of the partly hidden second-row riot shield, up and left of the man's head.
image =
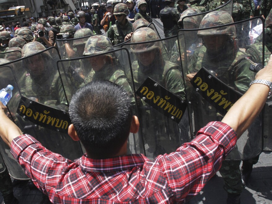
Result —
<instances>
[{"instance_id":1,"label":"partly hidden second-row riot shield, up and left of the man's head","mask_svg":"<svg viewBox=\"0 0 272 204\"><path fill-rule=\"evenodd\" d=\"M84 47L89 37L92 35L73 38L73 39L56 39L57 49L60 53L61 59L73 59L83 56Z\"/></svg>"}]
</instances>

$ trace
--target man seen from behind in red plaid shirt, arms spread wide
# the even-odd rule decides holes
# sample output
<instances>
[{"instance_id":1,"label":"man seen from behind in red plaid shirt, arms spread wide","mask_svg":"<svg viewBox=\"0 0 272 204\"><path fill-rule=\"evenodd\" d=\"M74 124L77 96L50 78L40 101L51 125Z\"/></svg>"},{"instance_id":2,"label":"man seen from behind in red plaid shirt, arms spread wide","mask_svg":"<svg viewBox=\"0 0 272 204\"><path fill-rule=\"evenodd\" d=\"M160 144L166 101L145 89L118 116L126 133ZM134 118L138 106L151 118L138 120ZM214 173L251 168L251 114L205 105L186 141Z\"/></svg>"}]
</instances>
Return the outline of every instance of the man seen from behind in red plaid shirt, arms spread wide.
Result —
<instances>
[{"instance_id":1,"label":"man seen from behind in red plaid shirt, arms spread wide","mask_svg":"<svg viewBox=\"0 0 272 204\"><path fill-rule=\"evenodd\" d=\"M109 81L91 82L72 97L68 134L80 140L87 152L75 162L48 151L30 135L22 135L2 103L0 135L53 203L80 203L83 199L85 203L183 203L219 170L260 113L268 92L271 95L272 55L255 79L222 122L208 123L190 143L153 161L142 154L126 155L126 139L130 132L137 133L138 118L132 115L126 91Z\"/></svg>"}]
</instances>

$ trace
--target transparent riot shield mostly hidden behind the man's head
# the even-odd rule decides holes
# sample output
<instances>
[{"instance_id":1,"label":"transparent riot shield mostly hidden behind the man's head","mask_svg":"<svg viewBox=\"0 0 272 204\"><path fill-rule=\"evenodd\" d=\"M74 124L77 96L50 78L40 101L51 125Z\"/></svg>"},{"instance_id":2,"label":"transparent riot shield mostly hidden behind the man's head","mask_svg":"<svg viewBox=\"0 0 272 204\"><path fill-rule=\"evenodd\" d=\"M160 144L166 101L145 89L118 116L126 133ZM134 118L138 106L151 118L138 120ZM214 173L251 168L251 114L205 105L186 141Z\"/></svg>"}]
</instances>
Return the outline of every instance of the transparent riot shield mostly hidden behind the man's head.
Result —
<instances>
[{"instance_id":1,"label":"transparent riot shield mostly hidden behind the man's head","mask_svg":"<svg viewBox=\"0 0 272 204\"><path fill-rule=\"evenodd\" d=\"M123 57L123 62L119 62L117 56ZM126 58L126 59L125 59ZM82 72L77 72L71 64L87 64ZM65 73L62 81L67 81L64 89L74 94L80 87L91 81L108 80L118 85L123 86L131 97L131 103L134 106L134 114L136 114L134 86L131 79L131 63L126 49L121 48L112 50L97 55L81 57L70 60L59 60L57 67L60 72ZM128 73L129 72L129 73ZM70 101L70 98L68 98ZM141 131L139 131L141 132ZM140 133L130 134L128 139L128 154L144 153L143 142Z\"/></svg>"}]
</instances>

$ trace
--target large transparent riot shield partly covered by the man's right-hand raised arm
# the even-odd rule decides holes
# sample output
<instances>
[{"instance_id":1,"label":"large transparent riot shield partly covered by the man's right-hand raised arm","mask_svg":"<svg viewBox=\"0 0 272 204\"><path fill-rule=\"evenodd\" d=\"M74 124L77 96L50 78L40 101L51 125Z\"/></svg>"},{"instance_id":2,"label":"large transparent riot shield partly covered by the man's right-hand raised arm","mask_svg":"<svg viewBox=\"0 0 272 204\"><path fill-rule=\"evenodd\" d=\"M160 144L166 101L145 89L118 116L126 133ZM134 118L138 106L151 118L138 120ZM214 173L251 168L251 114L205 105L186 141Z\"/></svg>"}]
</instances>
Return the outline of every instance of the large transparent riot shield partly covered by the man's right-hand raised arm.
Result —
<instances>
[{"instance_id":1,"label":"large transparent riot shield partly covered by the man's right-hand raised arm","mask_svg":"<svg viewBox=\"0 0 272 204\"><path fill-rule=\"evenodd\" d=\"M246 20L262 24L261 18ZM244 23L238 22L238 23ZM249 37L238 36L237 23L208 29L180 30L178 46L185 78L190 127L193 137L197 131L211 121L220 121L229 108L248 90L255 73L249 68L253 60L239 41ZM197 36L192 46L188 37ZM240 37L240 38L239 38ZM257 44L259 58L263 62L263 44ZM254 55L255 56L255 55ZM262 150L262 114L237 141L227 157L229 160L249 159Z\"/></svg>"}]
</instances>

